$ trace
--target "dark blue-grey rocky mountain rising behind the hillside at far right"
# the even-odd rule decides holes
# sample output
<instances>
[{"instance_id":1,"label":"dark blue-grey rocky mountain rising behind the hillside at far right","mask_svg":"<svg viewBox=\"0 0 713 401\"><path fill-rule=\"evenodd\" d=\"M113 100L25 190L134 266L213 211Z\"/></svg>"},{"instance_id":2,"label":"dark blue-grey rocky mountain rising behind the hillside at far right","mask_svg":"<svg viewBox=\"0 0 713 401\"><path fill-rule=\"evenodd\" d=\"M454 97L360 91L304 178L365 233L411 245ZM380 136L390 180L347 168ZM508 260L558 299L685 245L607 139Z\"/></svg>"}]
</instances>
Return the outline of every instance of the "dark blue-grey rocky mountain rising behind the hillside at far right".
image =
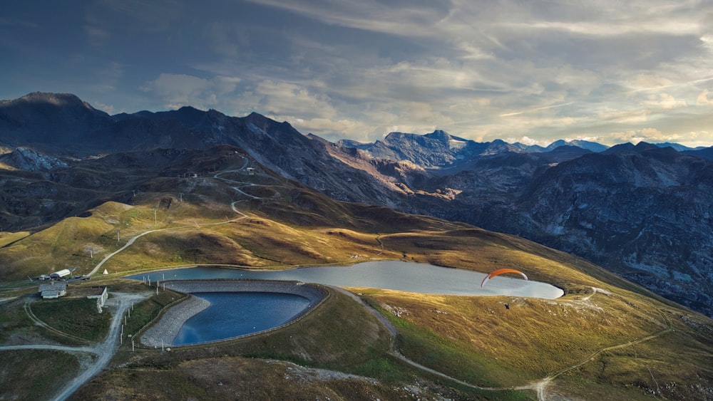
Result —
<instances>
[{"instance_id":1,"label":"dark blue-grey rocky mountain rising behind the hillside at far right","mask_svg":"<svg viewBox=\"0 0 713 401\"><path fill-rule=\"evenodd\" d=\"M510 230L713 315L710 199L713 163L640 144L535 177L513 204Z\"/></svg>"}]
</instances>

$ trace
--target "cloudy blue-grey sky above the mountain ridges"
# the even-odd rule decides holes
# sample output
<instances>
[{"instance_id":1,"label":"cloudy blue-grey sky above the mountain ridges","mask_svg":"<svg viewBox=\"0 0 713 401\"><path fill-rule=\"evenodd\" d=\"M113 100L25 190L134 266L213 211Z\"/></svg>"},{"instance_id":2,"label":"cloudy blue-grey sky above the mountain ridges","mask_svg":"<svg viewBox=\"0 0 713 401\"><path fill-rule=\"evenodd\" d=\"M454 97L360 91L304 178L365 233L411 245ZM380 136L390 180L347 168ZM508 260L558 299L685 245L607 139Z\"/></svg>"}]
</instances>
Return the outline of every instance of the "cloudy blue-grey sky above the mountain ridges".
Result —
<instances>
[{"instance_id":1,"label":"cloudy blue-grey sky above the mountain ridges","mask_svg":"<svg viewBox=\"0 0 713 401\"><path fill-rule=\"evenodd\" d=\"M7 1L0 99L253 111L328 140L713 145L712 1Z\"/></svg>"}]
</instances>

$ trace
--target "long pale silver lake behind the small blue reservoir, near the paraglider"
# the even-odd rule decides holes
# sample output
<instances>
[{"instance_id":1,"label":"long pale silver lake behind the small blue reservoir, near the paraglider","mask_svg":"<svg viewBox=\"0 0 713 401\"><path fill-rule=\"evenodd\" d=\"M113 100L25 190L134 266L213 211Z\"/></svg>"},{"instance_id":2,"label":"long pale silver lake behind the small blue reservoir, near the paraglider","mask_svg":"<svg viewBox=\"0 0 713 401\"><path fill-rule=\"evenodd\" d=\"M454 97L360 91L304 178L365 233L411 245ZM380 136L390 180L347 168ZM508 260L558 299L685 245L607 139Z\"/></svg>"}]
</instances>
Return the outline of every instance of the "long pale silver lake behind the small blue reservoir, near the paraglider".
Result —
<instances>
[{"instance_id":1,"label":"long pale silver lake behind the small blue reservoir, near the paraglider","mask_svg":"<svg viewBox=\"0 0 713 401\"><path fill-rule=\"evenodd\" d=\"M525 274L527 272L525 271ZM525 281L519 275L496 276L481 287L486 274L431 264L404 261L369 261L352 266L314 266L280 271L248 271L200 266L136 274L141 280L190 280L200 278L250 278L302 281L337 287L384 288L414 293L461 296L526 296L554 299L564 291L548 283Z\"/></svg>"}]
</instances>

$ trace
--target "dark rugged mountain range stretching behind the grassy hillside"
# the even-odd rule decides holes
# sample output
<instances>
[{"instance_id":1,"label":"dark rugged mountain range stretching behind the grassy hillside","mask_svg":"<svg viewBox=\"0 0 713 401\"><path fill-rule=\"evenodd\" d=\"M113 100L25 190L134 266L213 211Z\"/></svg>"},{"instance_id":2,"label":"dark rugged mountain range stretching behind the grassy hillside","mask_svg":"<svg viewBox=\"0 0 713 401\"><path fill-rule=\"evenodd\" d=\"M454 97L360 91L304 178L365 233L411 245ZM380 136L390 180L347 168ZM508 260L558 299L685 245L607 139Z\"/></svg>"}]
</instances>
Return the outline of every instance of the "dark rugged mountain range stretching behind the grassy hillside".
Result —
<instances>
[{"instance_id":1,"label":"dark rugged mountain range stretching behind the grassy hillside","mask_svg":"<svg viewBox=\"0 0 713 401\"><path fill-rule=\"evenodd\" d=\"M210 172L222 145L333 199L522 236L713 316L712 147L540 147L443 130L334 143L257 113L108 115L75 95L31 93L0 102L0 229L126 201L156 177Z\"/></svg>"}]
</instances>

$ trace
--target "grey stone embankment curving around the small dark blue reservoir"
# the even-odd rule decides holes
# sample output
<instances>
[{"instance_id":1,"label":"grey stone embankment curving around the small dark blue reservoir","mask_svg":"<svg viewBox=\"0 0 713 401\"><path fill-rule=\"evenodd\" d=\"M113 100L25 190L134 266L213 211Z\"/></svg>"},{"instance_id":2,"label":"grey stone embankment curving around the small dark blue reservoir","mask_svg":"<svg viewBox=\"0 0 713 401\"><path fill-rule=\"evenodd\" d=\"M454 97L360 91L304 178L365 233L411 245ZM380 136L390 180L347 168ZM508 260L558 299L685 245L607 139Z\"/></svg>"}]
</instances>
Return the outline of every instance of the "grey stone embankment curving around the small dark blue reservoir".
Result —
<instances>
[{"instance_id":1,"label":"grey stone embankment curving around the small dark blue reservoir","mask_svg":"<svg viewBox=\"0 0 713 401\"><path fill-rule=\"evenodd\" d=\"M207 293L207 292L260 292L260 293L290 293L302 296L309 300L309 305L302 313L292 318L292 323L304 316L327 296L322 288L294 281L268 281L268 280L174 280L161 281L161 286L182 293ZM190 296L186 301L171 307L160 318L158 323L145 330L140 337L140 343L149 347L169 346L183 327L183 323L191 317L210 306L210 302L203 298ZM284 325L283 325L284 326Z\"/></svg>"}]
</instances>

